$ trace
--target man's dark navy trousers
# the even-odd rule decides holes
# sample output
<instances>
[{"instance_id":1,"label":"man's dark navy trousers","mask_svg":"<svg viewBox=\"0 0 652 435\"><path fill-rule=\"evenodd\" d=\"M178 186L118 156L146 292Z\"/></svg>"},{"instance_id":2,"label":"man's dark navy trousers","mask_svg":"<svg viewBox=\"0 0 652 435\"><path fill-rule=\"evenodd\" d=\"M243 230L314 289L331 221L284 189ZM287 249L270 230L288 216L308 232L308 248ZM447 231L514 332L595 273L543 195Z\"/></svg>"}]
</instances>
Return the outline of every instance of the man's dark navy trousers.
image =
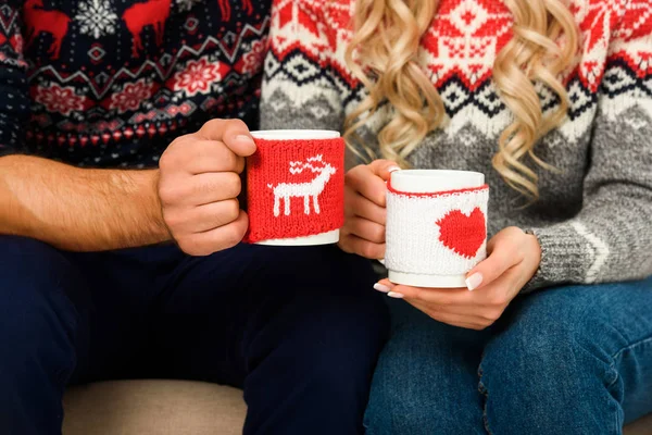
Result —
<instances>
[{"instance_id":1,"label":"man's dark navy trousers","mask_svg":"<svg viewBox=\"0 0 652 435\"><path fill-rule=\"evenodd\" d=\"M0 236L0 433L60 434L66 386L163 377L244 389L246 434L355 434L388 314L334 246L63 252Z\"/></svg>"}]
</instances>

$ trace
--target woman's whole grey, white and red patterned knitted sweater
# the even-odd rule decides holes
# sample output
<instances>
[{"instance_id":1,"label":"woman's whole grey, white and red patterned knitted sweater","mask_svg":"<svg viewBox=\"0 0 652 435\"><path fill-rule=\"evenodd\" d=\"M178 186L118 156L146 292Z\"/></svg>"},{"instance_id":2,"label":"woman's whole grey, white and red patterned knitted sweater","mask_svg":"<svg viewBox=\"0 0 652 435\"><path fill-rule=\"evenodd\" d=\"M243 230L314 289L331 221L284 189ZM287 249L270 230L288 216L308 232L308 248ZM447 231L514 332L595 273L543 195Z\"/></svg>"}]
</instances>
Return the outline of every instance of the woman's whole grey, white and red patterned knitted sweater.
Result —
<instances>
[{"instance_id":1,"label":"woman's whole grey, white and red patterned knitted sweater","mask_svg":"<svg viewBox=\"0 0 652 435\"><path fill-rule=\"evenodd\" d=\"M263 128L342 129L365 90L344 62L351 0L276 0L265 61ZM523 199L491 166L512 121L492 83L512 37L500 0L441 0L419 57L447 110L442 126L409 157L414 167L477 171L491 187L488 233L516 225L542 248L527 289L641 278L652 273L652 3L573 0L581 49L564 76L570 109L537 154L540 200ZM539 87L544 110L557 104ZM361 136L377 148L391 116L379 110ZM349 156L349 165L355 163Z\"/></svg>"}]
</instances>

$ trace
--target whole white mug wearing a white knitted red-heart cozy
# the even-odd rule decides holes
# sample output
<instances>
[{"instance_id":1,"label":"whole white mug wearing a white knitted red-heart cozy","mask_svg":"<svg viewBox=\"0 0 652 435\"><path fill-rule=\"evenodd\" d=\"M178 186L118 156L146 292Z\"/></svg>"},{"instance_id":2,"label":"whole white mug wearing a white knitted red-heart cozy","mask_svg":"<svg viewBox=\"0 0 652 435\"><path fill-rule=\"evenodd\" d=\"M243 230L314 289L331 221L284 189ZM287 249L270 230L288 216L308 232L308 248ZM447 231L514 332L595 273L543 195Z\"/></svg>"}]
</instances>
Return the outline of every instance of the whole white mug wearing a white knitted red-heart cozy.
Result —
<instances>
[{"instance_id":1,"label":"whole white mug wearing a white knitted red-heart cozy","mask_svg":"<svg viewBox=\"0 0 652 435\"><path fill-rule=\"evenodd\" d=\"M397 171L387 187L389 279L423 287L465 287L466 273L487 257L485 176L466 171Z\"/></svg>"}]
</instances>

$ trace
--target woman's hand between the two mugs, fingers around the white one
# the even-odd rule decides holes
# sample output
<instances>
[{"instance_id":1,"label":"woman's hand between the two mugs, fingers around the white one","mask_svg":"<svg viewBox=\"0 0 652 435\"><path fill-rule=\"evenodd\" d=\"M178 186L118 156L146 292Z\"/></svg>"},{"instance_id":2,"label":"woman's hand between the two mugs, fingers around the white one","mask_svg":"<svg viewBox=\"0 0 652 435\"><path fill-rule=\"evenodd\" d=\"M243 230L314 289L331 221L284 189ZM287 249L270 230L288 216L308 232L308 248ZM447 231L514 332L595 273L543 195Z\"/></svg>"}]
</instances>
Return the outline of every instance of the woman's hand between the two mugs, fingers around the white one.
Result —
<instances>
[{"instance_id":1,"label":"woman's hand between the two mugs, fingers around the white one","mask_svg":"<svg viewBox=\"0 0 652 435\"><path fill-rule=\"evenodd\" d=\"M374 160L347 172L344 226L338 244L344 252L385 258L386 182L399 169L390 160Z\"/></svg>"}]
</instances>

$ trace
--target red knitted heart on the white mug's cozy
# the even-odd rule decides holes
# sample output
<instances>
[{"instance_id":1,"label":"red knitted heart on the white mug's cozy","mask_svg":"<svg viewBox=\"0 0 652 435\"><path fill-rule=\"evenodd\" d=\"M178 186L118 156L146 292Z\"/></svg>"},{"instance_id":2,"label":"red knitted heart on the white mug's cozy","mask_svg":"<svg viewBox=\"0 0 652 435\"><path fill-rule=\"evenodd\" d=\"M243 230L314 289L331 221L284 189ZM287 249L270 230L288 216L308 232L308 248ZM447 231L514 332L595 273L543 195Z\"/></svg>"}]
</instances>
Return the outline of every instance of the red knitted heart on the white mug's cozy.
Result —
<instances>
[{"instance_id":1,"label":"red knitted heart on the white mug's cozy","mask_svg":"<svg viewBox=\"0 0 652 435\"><path fill-rule=\"evenodd\" d=\"M460 210L448 212L437 221L439 240L450 250L462 257L474 258L487 237L485 214L475 208L469 215Z\"/></svg>"}]
</instances>

